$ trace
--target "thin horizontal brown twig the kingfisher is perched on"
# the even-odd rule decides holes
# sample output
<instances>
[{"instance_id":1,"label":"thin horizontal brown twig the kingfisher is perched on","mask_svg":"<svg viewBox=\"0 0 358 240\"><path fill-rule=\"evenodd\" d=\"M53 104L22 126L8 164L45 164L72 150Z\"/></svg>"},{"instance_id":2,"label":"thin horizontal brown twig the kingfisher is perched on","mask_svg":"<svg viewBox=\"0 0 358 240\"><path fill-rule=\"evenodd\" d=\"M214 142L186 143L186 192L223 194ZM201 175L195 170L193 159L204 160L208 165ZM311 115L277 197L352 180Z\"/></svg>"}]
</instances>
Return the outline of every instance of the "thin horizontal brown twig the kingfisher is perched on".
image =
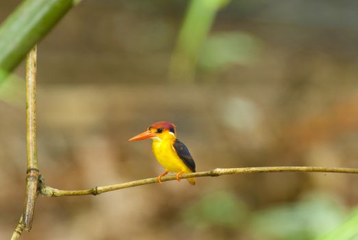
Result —
<instances>
[{"instance_id":1,"label":"thin horizontal brown twig the kingfisher is perched on","mask_svg":"<svg viewBox=\"0 0 358 240\"><path fill-rule=\"evenodd\" d=\"M217 177L229 174L241 174L241 173L269 173L269 172L322 172L322 173L354 173L358 174L358 169L353 168L341 168L341 167L240 167L229 169L214 169L212 171L199 171L196 173L188 173L179 176L179 178L199 178L199 177ZM162 182L176 180L175 175L164 176L161 178ZM78 196L78 195L99 195L109 191L115 191L119 189L127 189L129 187L136 187L146 184L158 182L157 178L146 178L142 180L136 180L132 182L124 182L120 184L113 184L103 187L94 187L92 189L84 190L60 190L48 187L42 184L40 187L40 193L46 197L64 197L64 196Z\"/></svg>"}]
</instances>

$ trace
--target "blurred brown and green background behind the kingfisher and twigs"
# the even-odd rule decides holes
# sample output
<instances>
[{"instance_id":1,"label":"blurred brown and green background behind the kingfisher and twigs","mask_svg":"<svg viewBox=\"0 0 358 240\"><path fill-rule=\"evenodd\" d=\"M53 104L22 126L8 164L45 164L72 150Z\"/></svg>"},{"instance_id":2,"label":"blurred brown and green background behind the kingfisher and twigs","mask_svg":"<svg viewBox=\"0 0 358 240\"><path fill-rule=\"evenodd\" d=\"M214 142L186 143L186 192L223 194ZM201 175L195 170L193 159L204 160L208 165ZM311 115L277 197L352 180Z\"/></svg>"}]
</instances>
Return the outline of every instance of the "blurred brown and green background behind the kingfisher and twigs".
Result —
<instances>
[{"instance_id":1,"label":"blurred brown and green background behind the kingfisher and twigs","mask_svg":"<svg viewBox=\"0 0 358 240\"><path fill-rule=\"evenodd\" d=\"M0 21L20 2L2 1ZM38 45L40 173L59 189L158 176L151 142L127 141L155 121L177 125L197 171L358 167L357 9L81 2ZM0 239L23 209L24 77L21 64L0 86ZM39 197L22 239L316 239L349 215L357 228L357 185L349 174L258 173Z\"/></svg>"}]
</instances>

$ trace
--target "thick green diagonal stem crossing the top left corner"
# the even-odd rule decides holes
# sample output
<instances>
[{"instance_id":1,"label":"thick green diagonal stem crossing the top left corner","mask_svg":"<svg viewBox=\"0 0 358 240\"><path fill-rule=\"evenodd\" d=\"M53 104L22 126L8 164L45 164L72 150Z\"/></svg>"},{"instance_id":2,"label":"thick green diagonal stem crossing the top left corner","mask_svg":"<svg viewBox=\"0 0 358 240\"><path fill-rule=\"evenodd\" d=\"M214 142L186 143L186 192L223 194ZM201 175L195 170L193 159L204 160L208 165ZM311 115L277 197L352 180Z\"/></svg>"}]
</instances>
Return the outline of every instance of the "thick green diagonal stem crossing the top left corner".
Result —
<instances>
[{"instance_id":1,"label":"thick green diagonal stem crossing the top left corner","mask_svg":"<svg viewBox=\"0 0 358 240\"><path fill-rule=\"evenodd\" d=\"M25 0L8 16L0 27L0 84L77 2Z\"/></svg>"}]
</instances>

